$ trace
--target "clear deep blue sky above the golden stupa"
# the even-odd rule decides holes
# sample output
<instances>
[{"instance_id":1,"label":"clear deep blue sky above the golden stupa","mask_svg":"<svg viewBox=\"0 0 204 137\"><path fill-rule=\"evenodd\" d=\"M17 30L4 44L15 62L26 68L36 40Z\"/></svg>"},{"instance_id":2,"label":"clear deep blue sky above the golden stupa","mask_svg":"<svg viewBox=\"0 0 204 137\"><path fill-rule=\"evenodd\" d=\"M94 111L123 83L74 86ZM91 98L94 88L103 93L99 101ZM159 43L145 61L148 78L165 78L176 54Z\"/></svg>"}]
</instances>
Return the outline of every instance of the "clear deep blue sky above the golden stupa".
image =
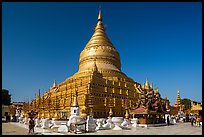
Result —
<instances>
[{"instance_id":1,"label":"clear deep blue sky above the golden stupa","mask_svg":"<svg viewBox=\"0 0 204 137\"><path fill-rule=\"evenodd\" d=\"M78 71L101 5L122 72L146 78L174 104L202 100L201 2L3 2L2 88L12 101L34 99Z\"/></svg>"}]
</instances>

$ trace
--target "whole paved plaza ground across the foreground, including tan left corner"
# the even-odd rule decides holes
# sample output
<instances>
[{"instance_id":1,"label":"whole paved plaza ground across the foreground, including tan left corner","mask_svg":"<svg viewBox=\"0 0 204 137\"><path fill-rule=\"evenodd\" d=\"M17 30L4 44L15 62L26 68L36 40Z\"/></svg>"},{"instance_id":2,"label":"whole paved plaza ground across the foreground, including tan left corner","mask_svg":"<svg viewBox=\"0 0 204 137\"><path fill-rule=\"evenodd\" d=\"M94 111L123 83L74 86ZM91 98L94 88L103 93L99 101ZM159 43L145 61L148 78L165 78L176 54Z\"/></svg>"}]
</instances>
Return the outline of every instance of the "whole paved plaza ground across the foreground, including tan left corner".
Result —
<instances>
[{"instance_id":1,"label":"whole paved plaza ground across the foreground, including tan left corner","mask_svg":"<svg viewBox=\"0 0 204 137\"><path fill-rule=\"evenodd\" d=\"M2 123L2 135L29 135L28 126L16 122ZM75 135L74 133L58 133L51 129L35 128L35 135ZM191 126L190 123L177 123L160 127L137 127L131 130L99 130L77 135L202 135L202 126Z\"/></svg>"}]
</instances>

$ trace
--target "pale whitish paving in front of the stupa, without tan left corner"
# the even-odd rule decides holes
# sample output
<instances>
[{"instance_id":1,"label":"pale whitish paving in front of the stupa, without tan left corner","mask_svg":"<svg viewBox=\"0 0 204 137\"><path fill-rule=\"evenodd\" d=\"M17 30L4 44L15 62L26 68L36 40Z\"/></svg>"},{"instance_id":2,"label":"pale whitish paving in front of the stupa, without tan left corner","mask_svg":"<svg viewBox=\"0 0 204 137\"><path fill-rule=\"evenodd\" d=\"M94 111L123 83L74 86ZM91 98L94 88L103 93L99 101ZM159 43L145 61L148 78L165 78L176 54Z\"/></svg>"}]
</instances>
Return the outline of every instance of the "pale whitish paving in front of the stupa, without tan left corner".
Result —
<instances>
[{"instance_id":1,"label":"pale whitish paving in front of the stupa, without tan left corner","mask_svg":"<svg viewBox=\"0 0 204 137\"><path fill-rule=\"evenodd\" d=\"M28 129L28 125L21 123L12 124ZM75 135L74 133L59 133L51 129L35 127L35 132L41 135ZM134 127L131 130L98 130L96 132L81 133L77 135L202 135L202 126L191 126L190 123L177 123L160 127Z\"/></svg>"}]
</instances>

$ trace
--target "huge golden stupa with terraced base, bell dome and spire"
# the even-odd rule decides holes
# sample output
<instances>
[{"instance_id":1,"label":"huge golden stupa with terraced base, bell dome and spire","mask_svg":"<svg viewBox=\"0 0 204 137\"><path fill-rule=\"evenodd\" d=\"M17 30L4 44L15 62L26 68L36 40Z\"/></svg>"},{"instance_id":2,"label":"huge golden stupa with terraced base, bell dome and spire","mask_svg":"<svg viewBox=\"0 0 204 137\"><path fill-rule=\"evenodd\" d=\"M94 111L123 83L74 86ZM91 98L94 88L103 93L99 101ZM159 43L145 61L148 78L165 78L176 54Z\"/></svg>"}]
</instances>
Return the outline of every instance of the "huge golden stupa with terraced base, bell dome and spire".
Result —
<instances>
[{"instance_id":1,"label":"huge golden stupa with terraced base, bell dome and spire","mask_svg":"<svg viewBox=\"0 0 204 137\"><path fill-rule=\"evenodd\" d=\"M120 55L105 33L99 10L94 33L80 53L78 72L60 84L54 81L43 95L39 92L30 108L38 117L60 118L77 93L81 116L108 117L110 110L112 116L125 116L137 102L138 88L140 84L121 71Z\"/></svg>"}]
</instances>

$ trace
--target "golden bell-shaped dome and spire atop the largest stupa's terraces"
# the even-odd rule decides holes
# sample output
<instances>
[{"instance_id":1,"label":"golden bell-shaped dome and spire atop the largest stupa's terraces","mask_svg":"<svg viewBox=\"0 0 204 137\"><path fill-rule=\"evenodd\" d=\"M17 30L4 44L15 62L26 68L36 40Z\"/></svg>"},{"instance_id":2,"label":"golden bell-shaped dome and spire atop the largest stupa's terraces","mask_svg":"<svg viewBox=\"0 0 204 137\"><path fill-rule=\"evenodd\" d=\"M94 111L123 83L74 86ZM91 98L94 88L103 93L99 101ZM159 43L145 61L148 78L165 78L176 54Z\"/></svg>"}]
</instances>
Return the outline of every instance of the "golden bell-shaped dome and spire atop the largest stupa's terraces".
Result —
<instances>
[{"instance_id":1,"label":"golden bell-shaped dome and spire atop the largest stupa's terraces","mask_svg":"<svg viewBox=\"0 0 204 137\"><path fill-rule=\"evenodd\" d=\"M94 63L99 71L121 71L120 55L105 33L100 10L94 34L80 54L79 72L89 70Z\"/></svg>"}]
</instances>

